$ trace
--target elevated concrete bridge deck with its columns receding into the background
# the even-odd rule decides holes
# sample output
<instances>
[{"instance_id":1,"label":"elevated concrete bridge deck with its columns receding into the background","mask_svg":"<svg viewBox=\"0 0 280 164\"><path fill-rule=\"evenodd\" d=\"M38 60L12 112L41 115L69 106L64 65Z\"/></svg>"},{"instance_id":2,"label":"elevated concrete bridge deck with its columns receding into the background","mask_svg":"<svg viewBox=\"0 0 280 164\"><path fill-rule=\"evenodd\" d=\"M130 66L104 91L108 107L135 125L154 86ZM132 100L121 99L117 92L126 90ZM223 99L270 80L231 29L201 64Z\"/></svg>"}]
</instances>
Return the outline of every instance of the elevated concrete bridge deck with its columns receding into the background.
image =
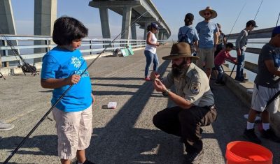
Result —
<instances>
[{"instance_id":1,"label":"elevated concrete bridge deck with its columns receding into the background","mask_svg":"<svg viewBox=\"0 0 280 164\"><path fill-rule=\"evenodd\" d=\"M144 38L146 38L147 26L151 22L157 22L160 25L157 37L159 40L167 40L171 35L169 27L151 0L92 0L89 5L94 8L99 8L103 38L111 38L108 15L109 9L123 15L122 31L125 31L134 20L143 15L141 19L135 23L139 24L141 28L144 29ZM132 39L137 39L135 24L132 24L131 31L125 31L122 38L128 39L130 33L132 34Z\"/></svg>"}]
</instances>

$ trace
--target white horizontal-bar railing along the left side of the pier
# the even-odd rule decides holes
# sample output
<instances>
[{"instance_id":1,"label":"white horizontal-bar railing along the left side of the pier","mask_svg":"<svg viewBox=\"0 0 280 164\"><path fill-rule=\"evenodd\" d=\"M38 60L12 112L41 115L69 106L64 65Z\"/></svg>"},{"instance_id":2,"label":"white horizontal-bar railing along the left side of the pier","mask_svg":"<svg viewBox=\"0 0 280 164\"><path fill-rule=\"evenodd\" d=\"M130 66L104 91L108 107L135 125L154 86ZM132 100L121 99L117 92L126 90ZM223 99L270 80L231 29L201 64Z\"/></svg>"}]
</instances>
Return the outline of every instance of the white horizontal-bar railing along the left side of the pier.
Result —
<instances>
[{"instance_id":1,"label":"white horizontal-bar railing along the left side of the pier","mask_svg":"<svg viewBox=\"0 0 280 164\"><path fill-rule=\"evenodd\" d=\"M10 50L11 47L8 46L7 40L17 41L18 45L14 45L16 50L20 53L23 59L29 59L33 63L34 59L42 58L45 52L51 50L55 47L55 43L52 43L51 36L17 36L17 35L7 35L5 38L0 36L0 54L2 66L7 67L9 64L18 62L19 58L15 56ZM40 40L44 45L34 45L34 41ZM146 40L132 40L132 39L104 39L104 38L84 38L82 45L80 46L80 52L83 55L99 54L104 50L104 47L109 46L106 51L113 52L116 49L122 49L129 45L132 49L137 49L146 46ZM167 40L159 40L160 43L167 43ZM110 45L111 44L111 45ZM36 53L34 53L36 52Z\"/></svg>"}]
</instances>

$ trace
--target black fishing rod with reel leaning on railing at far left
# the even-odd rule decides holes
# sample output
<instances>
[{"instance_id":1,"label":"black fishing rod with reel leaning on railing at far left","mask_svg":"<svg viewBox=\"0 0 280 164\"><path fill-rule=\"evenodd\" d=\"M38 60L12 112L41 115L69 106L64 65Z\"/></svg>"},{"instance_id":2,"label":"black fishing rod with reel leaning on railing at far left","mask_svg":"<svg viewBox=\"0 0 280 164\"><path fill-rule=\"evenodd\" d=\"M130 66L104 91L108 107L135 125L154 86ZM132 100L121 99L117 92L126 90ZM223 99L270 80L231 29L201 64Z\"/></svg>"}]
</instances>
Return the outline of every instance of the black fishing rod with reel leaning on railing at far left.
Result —
<instances>
[{"instance_id":1,"label":"black fishing rod with reel leaning on railing at far left","mask_svg":"<svg viewBox=\"0 0 280 164\"><path fill-rule=\"evenodd\" d=\"M15 55L15 59L18 61L18 67L22 68L22 72L25 74L27 72L31 73L31 75L38 75L38 72L36 71L36 67L35 66L31 66L21 55L20 53L18 53L18 50L15 49L15 47L13 46L13 43L8 40L7 36L5 34L3 34L3 32L0 29L0 36L6 40L8 46L10 47L10 50L12 51L12 53ZM20 61L18 60L18 57L20 58L20 61L22 61L23 64L20 63ZM25 74L26 75L26 74Z\"/></svg>"}]
</instances>

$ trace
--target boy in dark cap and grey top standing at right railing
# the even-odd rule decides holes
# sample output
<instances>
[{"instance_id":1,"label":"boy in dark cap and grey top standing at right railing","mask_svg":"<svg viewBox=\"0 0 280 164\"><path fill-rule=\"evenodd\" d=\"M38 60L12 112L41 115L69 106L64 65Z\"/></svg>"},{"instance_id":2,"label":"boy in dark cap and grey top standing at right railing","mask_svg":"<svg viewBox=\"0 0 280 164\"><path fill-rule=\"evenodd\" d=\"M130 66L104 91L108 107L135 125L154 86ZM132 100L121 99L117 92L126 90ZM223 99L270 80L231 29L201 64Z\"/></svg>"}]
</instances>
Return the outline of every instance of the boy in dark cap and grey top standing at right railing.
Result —
<instances>
[{"instance_id":1,"label":"boy in dark cap and grey top standing at right railing","mask_svg":"<svg viewBox=\"0 0 280 164\"><path fill-rule=\"evenodd\" d=\"M236 82L245 82L246 80L248 80L245 79L243 75L245 50L248 41L248 32L252 31L255 27L258 27L255 24L255 21L249 20L246 23L246 28L239 33L239 36L235 40L235 48L237 50L237 72L235 76Z\"/></svg>"}]
</instances>

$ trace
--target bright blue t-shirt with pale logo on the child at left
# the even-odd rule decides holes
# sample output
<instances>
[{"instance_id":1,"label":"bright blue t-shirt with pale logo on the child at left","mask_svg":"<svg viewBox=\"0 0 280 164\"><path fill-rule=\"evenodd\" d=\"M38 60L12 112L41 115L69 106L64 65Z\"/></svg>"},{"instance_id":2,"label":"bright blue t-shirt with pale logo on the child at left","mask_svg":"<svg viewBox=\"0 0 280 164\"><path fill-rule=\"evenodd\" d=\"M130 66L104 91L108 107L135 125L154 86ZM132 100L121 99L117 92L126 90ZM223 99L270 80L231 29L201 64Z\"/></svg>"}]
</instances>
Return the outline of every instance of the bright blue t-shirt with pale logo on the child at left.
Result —
<instances>
[{"instance_id":1,"label":"bright blue t-shirt with pale logo on the child at left","mask_svg":"<svg viewBox=\"0 0 280 164\"><path fill-rule=\"evenodd\" d=\"M73 74L80 75L87 68L80 50L64 50L55 47L43 57L41 79L60 79ZM69 85L54 89L52 91L52 105L69 88ZM56 105L57 109L64 112L78 112L87 109L92 103L92 87L90 76L86 71L77 84L66 93Z\"/></svg>"}]
</instances>

